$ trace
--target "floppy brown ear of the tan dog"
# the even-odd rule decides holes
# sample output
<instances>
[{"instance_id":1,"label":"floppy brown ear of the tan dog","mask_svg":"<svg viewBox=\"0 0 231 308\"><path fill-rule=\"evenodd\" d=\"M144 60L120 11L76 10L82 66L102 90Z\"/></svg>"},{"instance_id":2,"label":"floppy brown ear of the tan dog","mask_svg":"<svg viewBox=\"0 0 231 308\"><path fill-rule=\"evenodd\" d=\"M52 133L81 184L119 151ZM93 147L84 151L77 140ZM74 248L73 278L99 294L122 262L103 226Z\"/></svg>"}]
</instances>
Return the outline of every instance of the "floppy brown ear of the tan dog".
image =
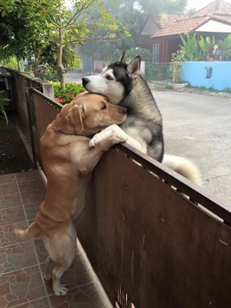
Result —
<instances>
[{"instance_id":1,"label":"floppy brown ear of the tan dog","mask_svg":"<svg viewBox=\"0 0 231 308\"><path fill-rule=\"evenodd\" d=\"M77 134L81 134L83 131L83 108L78 105L74 105L68 110L66 120Z\"/></svg>"}]
</instances>

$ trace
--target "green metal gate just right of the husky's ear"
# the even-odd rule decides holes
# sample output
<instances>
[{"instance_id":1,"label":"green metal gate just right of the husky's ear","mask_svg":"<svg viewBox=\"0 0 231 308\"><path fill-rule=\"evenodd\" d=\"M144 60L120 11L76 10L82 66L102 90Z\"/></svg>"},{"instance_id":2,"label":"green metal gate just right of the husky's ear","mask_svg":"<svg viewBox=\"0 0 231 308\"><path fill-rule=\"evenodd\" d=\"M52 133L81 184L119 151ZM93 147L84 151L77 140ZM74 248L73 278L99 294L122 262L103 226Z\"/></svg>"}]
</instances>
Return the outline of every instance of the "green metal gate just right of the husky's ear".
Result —
<instances>
[{"instance_id":1,"label":"green metal gate just right of the husky's ear","mask_svg":"<svg viewBox=\"0 0 231 308\"><path fill-rule=\"evenodd\" d=\"M147 81L173 80L173 63L145 63L145 79Z\"/></svg>"}]
</instances>

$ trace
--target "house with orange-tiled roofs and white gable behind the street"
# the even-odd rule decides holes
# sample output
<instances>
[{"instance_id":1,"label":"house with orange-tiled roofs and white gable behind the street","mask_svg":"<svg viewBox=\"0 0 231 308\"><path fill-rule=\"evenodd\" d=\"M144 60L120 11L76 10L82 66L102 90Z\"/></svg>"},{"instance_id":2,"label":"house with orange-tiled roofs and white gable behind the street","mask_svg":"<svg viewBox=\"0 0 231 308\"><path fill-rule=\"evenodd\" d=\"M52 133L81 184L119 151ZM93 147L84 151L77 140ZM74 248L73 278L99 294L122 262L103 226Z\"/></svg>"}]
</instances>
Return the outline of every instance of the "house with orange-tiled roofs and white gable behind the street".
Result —
<instances>
[{"instance_id":1,"label":"house with orange-tiled roofs and white gable behind the street","mask_svg":"<svg viewBox=\"0 0 231 308\"><path fill-rule=\"evenodd\" d=\"M190 17L184 14L161 14L159 20L149 17L141 31L144 46L152 51L153 62L170 62L171 54L182 44L180 35L193 33L214 36L216 41L226 37L231 33L231 4L216 0Z\"/></svg>"}]
</instances>

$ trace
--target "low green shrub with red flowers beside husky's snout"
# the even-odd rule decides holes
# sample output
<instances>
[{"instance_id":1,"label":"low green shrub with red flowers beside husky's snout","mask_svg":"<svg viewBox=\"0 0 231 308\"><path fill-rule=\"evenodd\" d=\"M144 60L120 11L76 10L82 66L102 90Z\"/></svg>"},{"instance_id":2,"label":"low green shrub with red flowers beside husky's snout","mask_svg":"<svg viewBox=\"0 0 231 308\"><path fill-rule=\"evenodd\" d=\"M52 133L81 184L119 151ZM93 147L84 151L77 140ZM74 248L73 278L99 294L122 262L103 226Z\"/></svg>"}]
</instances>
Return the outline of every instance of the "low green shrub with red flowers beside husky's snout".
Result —
<instances>
[{"instance_id":1,"label":"low green shrub with red flowers beside husky's snout","mask_svg":"<svg viewBox=\"0 0 231 308\"><path fill-rule=\"evenodd\" d=\"M79 93L84 92L85 89L80 83L65 83L65 89L61 90L59 81L49 81L54 88L54 97L56 102L61 104L70 103Z\"/></svg>"}]
</instances>

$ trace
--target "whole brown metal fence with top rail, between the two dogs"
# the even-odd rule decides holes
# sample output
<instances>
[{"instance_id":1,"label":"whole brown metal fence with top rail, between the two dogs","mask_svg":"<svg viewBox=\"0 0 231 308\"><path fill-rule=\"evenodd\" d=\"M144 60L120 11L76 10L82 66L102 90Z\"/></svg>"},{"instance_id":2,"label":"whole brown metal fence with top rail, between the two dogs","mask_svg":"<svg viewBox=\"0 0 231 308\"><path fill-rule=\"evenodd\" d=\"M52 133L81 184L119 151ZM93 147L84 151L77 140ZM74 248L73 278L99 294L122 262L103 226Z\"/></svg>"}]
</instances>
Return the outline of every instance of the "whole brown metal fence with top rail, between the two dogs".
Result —
<instances>
[{"instance_id":1,"label":"whole brown metal fence with top rail, between the two dogs","mask_svg":"<svg viewBox=\"0 0 231 308\"><path fill-rule=\"evenodd\" d=\"M61 105L36 90L31 97L38 153ZM229 209L147 155L119 145L96 166L78 237L117 306L229 308Z\"/></svg>"}]
</instances>

